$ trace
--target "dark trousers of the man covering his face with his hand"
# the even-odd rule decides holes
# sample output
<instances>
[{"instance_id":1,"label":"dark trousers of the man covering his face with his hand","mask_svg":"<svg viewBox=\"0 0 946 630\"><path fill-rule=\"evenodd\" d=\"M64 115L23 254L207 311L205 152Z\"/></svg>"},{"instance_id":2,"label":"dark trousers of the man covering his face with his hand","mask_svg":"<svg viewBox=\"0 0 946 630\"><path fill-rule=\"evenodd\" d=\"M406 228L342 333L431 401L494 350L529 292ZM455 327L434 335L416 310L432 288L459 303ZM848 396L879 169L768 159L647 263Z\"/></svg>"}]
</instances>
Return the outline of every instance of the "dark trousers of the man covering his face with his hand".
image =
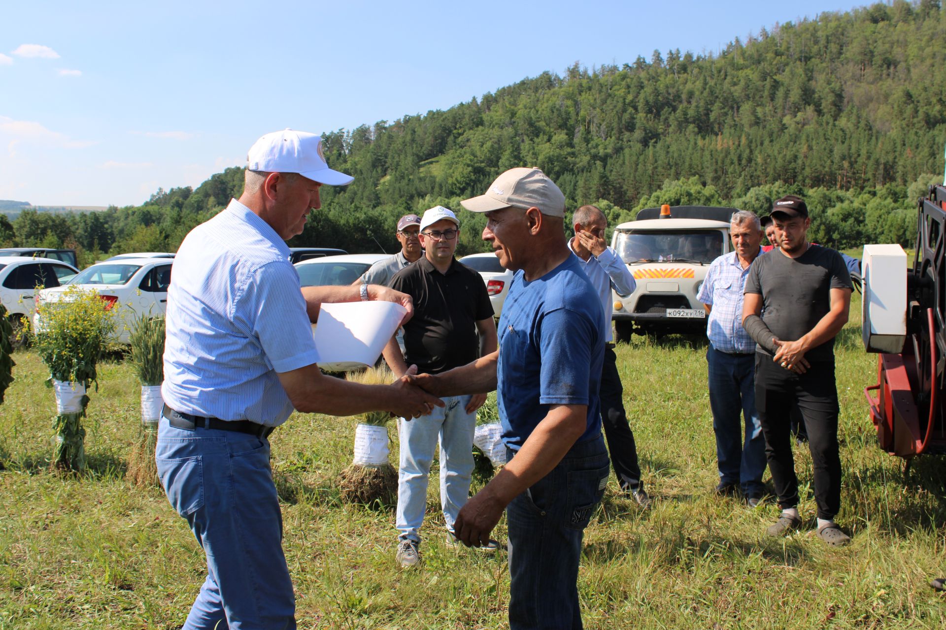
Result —
<instances>
[{"instance_id":1,"label":"dark trousers of the man covering his face with his hand","mask_svg":"<svg viewBox=\"0 0 946 630\"><path fill-rule=\"evenodd\" d=\"M643 488L640 483L638 448L634 434L624 413L624 388L618 374L618 356L613 349L604 349L604 364L601 369L601 419L607 450L618 475L618 483L624 492L635 492Z\"/></svg>"}]
</instances>

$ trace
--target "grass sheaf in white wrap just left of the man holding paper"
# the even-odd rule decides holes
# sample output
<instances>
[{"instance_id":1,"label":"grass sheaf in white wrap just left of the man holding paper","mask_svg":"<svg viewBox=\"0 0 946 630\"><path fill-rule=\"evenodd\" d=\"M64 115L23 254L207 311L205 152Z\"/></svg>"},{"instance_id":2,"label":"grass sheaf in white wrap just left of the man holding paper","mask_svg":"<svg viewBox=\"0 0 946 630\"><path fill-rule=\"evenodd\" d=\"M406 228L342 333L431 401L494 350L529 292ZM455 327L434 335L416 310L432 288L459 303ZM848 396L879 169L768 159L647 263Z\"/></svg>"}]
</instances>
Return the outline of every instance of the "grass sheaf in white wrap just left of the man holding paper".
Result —
<instances>
[{"instance_id":1,"label":"grass sheaf in white wrap just left of the man holding paper","mask_svg":"<svg viewBox=\"0 0 946 630\"><path fill-rule=\"evenodd\" d=\"M129 338L130 362L141 383L141 427L131 447L128 478L134 485L159 485L154 464L161 419L161 383L165 380L165 318L140 315Z\"/></svg>"}]
</instances>

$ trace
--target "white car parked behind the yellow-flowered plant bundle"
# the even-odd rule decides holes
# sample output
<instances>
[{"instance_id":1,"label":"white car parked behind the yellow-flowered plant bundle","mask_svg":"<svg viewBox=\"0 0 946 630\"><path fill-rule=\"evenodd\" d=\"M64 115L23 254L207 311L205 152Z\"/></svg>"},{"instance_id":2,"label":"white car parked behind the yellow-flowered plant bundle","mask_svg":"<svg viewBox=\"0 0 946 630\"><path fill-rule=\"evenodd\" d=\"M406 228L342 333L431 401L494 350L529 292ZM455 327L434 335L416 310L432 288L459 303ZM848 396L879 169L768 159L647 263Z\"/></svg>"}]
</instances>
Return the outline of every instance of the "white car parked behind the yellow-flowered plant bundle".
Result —
<instances>
[{"instance_id":1,"label":"white car parked behind the yellow-flowered plant bundle","mask_svg":"<svg viewBox=\"0 0 946 630\"><path fill-rule=\"evenodd\" d=\"M115 329L118 343L129 343L134 320L139 315L163 316L167 310L167 286L171 283L171 261L166 258L128 258L93 264L83 269L69 286L92 289L117 308ZM47 288L36 294L37 305L61 300L66 287ZM33 326L43 330L39 313Z\"/></svg>"}]
</instances>

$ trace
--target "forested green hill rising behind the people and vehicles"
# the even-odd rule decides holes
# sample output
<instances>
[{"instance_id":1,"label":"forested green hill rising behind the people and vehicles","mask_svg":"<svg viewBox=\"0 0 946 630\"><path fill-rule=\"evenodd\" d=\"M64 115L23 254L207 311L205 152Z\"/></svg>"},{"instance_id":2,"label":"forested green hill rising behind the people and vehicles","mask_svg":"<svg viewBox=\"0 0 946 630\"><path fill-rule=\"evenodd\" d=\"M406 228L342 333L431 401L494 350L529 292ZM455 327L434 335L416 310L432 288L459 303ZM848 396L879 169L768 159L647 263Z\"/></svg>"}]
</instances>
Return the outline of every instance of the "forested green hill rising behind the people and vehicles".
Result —
<instances>
[{"instance_id":1,"label":"forested green hill rising behind the people and vehicles","mask_svg":"<svg viewBox=\"0 0 946 630\"><path fill-rule=\"evenodd\" d=\"M943 13L931 0L823 13L737 38L718 55L576 63L447 111L327 133L328 162L355 182L324 189L331 212L315 213L292 245L377 251L377 240L392 250L397 214L457 208L519 165L542 168L570 208L602 200L612 221L657 201L762 212L793 192L812 198L822 242L905 242L916 195L943 172ZM114 211L111 242L102 234L80 245L131 247L138 230L139 249L173 250L239 188L238 169L228 169L193 193L159 191ZM461 249L477 249L482 217L464 217ZM17 241L27 237L14 228Z\"/></svg>"}]
</instances>

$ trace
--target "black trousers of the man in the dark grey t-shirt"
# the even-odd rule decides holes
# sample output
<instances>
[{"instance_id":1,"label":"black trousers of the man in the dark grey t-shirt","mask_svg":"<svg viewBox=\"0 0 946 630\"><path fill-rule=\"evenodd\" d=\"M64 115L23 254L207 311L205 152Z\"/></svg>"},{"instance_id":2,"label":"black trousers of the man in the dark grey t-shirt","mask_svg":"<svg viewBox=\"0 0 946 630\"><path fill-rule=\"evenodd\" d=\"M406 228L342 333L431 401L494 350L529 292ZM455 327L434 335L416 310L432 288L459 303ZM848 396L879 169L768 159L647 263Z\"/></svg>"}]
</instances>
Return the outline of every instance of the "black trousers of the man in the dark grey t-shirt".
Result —
<instances>
[{"instance_id":1,"label":"black trousers of the man in the dark grey t-shirt","mask_svg":"<svg viewBox=\"0 0 946 630\"><path fill-rule=\"evenodd\" d=\"M841 509L841 456L837 443L837 387L834 362L814 362L804 374L756 354L756 407L765 434L765 455L782 509L798 504L798 480L792 454L791 412L798 409L808 430L815 471L818 518L831 520Z\"/></svg>"}]
</instances>

